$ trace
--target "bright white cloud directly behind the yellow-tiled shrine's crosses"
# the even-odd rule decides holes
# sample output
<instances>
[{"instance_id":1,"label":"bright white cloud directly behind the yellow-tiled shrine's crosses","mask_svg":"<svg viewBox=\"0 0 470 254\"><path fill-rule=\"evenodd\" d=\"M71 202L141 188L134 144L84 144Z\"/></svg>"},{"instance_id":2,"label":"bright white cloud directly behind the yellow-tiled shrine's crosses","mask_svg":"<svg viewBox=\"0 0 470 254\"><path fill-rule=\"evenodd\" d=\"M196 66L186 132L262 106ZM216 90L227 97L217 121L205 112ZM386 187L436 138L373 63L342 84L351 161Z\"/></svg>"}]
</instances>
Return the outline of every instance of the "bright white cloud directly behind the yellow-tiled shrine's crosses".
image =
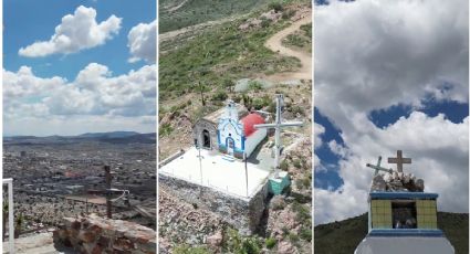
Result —
<instances>
[{"instance_id":1,"label":"bright white cloud directly behind the yellow-tiled shrine's crosses","mask_svg":"<svg viewBox=\"0 0 470 254\"><path fill-rule=\"evenodd\" d=\"M342 157L340 177L344 186L336 191L315 189L315 223L366 212L373 170L365 165L375 163L383 156L383 166L395 168L386 163L386 158L395 157L396 149L404 149L405 156L412 158L405 171L422 178L426 191L440 194L439 210L468 212L468 117L455 124L443 115L429 117L414 112L384 129L373 127L367 134L345 134L347 149L336 142L332 146L332 151Z\"/></svg>"}]
</instances>

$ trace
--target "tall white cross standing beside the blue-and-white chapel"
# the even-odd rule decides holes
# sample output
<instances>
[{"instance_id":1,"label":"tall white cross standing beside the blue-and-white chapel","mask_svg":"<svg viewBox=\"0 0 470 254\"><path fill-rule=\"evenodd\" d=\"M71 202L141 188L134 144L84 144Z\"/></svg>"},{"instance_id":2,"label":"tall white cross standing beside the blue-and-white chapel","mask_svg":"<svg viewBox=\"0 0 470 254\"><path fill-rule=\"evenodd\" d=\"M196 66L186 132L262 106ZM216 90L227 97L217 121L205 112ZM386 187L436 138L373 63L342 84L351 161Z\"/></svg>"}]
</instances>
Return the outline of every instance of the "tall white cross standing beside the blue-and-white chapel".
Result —
<instances>
[{"instance_id":1,"label":"tall white cross standing beside the blue-and-white chapel","mask_svg":"<svg viewBox=\"0 0 470 254\"><path fill-rule=\"evenodd\" d=\"M279 161L279 157L281 156L281 129L284 127L293 127L293 126L302 126L303 123L302 121L290 121L290 123L282 123L281 120L281 107L284 103L284 95L282 94L276 94L275 95L275 123L274 124L262 124L262 125L254 125L254 128L257 129L261 129L261 128L265 128L265 129L271 129L274 128L275 129L275 135L274 135L274 151L275 151L275 156L274 156L274 169L275 169L275 177L278 177L279 173L279 168L280 168L280 161Z\"/></svg>"}]
</instances>

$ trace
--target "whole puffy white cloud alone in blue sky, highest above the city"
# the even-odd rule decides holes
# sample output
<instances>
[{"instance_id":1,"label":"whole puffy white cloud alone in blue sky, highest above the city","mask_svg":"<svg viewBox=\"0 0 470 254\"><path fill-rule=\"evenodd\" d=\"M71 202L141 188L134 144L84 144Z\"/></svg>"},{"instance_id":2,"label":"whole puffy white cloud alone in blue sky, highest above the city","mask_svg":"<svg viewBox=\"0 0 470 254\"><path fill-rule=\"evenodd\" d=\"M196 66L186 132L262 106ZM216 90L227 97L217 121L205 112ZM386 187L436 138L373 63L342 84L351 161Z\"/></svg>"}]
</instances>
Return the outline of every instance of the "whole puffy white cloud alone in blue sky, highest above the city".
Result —
<instances>
[{"instance_id":1,"label":"whole puffy white cloud alone in blue sky, highest above the city","mask_svg":"<svg viewBox=\"0 0 470 254\"><path fill-rule=\"evenodd\" d=\"M51 54L70 54L104 44L117 34L122 19L111 15L97 23L96 10L80 6L73 14L62 18L61 24L49 41L34 42L21 47L19 54L28 57L41 57Z\"/></svg>"}]
</instances>

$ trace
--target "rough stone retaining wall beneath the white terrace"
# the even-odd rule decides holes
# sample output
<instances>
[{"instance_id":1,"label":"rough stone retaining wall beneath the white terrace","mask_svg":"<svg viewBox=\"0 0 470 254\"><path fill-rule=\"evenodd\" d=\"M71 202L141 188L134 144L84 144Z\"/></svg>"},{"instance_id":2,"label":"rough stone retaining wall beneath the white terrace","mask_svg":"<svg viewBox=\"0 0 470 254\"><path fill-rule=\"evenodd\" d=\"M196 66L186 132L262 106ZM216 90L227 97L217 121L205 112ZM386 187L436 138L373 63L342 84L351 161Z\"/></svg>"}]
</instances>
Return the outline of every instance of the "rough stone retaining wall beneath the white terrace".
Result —
<instances>
[{"instance_id":1,"label":"rough stone retaining wall beneath the white terrace","mask_svg":"<svg viewBox=\"0 0 470 254\"><path fill-rule=\"evenodd\" d=\"M251 199L246 199L164 173L158 174L158 183L166 186L173 190L173 194L194 207L220 215L223 221L238 229L243 235L254 232L267 205L268 184L263 184Z\"/></svg>"}]
</instances>

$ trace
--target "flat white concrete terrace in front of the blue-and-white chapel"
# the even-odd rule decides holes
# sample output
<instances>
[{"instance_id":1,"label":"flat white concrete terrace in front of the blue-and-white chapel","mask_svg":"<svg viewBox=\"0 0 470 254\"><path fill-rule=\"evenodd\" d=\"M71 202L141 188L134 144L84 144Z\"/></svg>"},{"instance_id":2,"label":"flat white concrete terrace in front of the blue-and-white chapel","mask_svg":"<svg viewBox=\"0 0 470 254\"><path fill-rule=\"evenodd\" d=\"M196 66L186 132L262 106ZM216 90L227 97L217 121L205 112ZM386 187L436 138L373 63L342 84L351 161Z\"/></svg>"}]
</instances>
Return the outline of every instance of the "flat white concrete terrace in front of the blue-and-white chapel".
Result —
<instances>
[{"instance_id":1,"label":"flat white concrete terrace in front of the blue-and-white chapel","mask_svg":"<svg viewBox=\"0 0 470 254\"><path fill-rule=\"evenodd\" d=\"M228 159L218 151L201 149L200 155L199 159L198 149L191 147L163 166L159 173L243 199L250 199L259 192L271 173L265 163L248 162L246 170L243 161Z\"/></svg>"}]
</instances>

